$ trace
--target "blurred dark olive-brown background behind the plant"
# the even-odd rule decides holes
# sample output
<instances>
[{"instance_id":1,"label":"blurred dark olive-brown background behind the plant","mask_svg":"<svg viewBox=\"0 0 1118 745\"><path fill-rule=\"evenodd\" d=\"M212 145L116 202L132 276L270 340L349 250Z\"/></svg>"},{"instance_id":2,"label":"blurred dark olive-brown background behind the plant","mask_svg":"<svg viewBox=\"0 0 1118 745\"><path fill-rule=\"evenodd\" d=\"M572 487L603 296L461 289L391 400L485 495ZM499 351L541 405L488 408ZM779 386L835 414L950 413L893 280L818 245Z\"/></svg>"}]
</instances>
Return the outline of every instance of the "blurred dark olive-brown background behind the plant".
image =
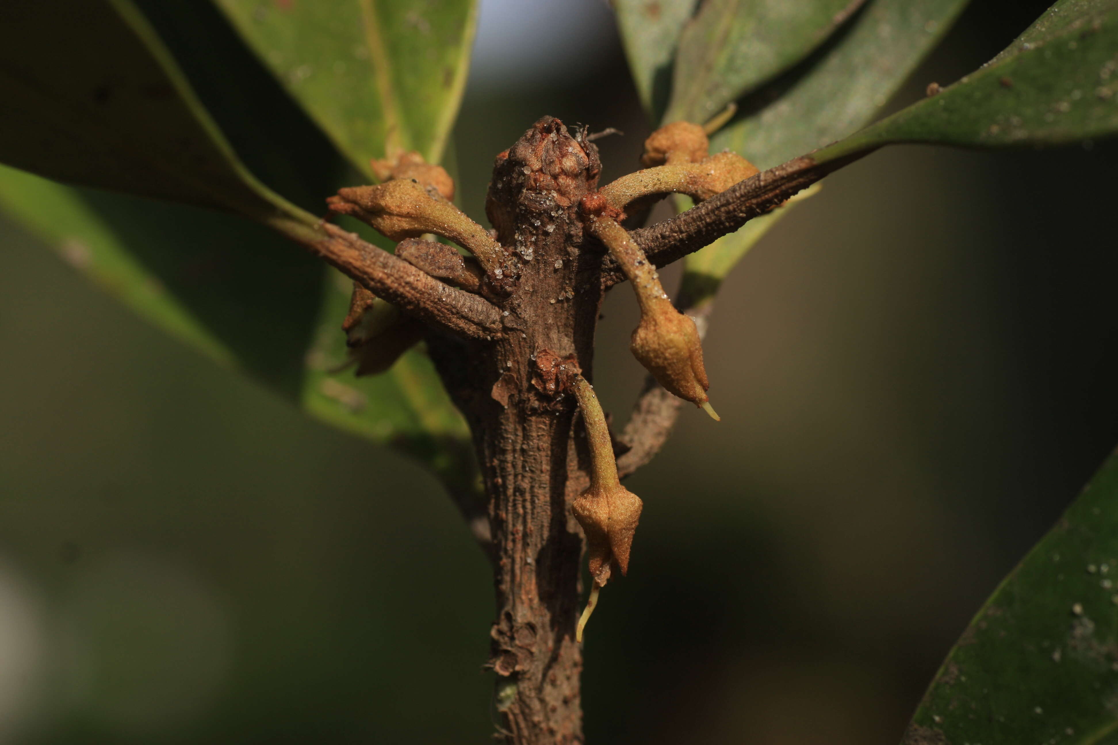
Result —
<instances>
[{"instance_id":1,"label":"blurred dark olive-brown background behind the plant","mask_svg":"<svg viewBox=\"0 0 1118 745\"><path fill-rule=\"evenodd\" d=\"M1046 4L976 1L891 105ZM648 126L599 0L482 18L455 136L471 214L543 114L623 130L606 176L635 166ZM587 631L591 743L898 742L1118 442L1116 166L1115 142L889 149L730 275L705 343L723 421L685 410L627 483L645 512ZM10 222L0 247L0 742L487 742L491 579L435 480ZM624 287L605 316L599 394L624 420Z\"/></svg>"}]
</instances>

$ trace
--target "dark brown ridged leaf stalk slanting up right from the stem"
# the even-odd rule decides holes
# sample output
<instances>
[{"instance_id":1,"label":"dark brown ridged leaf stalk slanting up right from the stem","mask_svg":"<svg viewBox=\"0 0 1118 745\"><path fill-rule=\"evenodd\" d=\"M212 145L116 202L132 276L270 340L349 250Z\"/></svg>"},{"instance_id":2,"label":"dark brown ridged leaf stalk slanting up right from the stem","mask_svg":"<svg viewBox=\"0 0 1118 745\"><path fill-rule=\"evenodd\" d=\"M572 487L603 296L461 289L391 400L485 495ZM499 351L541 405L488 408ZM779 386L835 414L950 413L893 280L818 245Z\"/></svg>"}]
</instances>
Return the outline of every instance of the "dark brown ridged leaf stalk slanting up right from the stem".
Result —
<instances>
[{"instance_id":1,"label":"dark brown ridged leaf stalk slanting up right from the stem","mask_svg":"<svg viewBox=\"0 0 1118 745\"><path fill-rule=\"evenodd\" d=\"M671 220L634 230L631 235L653 264L657 267L667 266L688 254L710 246L749 220L771 212L797 192L870 152L872 151L855 153L826 163L816 163L809 155L793 159L739 181ZM612 257L606 257L601 268L603 286L613 287L624 280L625 275L617 262Z\"/></svg>"}]
</instances>

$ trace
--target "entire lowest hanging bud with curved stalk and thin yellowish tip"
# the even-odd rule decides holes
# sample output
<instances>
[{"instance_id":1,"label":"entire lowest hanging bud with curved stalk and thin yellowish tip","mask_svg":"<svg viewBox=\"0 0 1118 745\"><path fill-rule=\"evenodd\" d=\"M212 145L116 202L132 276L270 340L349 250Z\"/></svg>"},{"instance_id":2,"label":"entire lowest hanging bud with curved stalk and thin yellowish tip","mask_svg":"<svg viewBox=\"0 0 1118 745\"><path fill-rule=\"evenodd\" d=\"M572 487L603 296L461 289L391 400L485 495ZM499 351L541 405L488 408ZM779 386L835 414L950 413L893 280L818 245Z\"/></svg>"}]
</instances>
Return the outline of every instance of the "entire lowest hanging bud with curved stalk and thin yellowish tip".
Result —
<instances>
[{"instance_id":1,"label":"entire lowest hanging bud with curved stalk and thin yellowish tip","mask_svg":"<svg viewBox=\"0 0 1118 745\"><path fill-rule=\"evenodd\" d=\"M582 641L582 629L597 604L598 591L609 580L614 564L628 572L629 551L633 535L641 519L641 498L622 486L617 478L617 461L609 439L606 416L598 403L598 397L581 375L574 376L575 397L586 423L586 439L590 446L590 488L571 504L575 519L586 534L587 553L590 560L590 600L578 621L575 637Z\"/></svg>"}]
</instances>

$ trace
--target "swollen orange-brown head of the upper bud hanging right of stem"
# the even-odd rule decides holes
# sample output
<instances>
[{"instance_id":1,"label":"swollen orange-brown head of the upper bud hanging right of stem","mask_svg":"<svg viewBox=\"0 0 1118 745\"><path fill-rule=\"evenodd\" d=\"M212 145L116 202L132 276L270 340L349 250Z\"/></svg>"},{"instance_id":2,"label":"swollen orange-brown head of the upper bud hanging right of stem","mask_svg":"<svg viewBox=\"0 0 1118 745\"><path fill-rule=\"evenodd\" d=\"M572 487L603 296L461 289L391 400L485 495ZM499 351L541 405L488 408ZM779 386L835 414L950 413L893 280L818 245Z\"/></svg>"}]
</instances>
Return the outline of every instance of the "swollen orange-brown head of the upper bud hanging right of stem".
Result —
<instances>
[{"instance_id":1,"label":"swollen orange-brown head of the upper bud hanging right of stem","mask_svg":"<svg viewBox=\"0 0 1118 745\"><path fill-rule=\"evenodd\" d=\"M670 304L641 316L629 348L656 382L670 393L701 407L709 401L710 381L702 360L695 322Z\"/></svg>"}]
</instances>

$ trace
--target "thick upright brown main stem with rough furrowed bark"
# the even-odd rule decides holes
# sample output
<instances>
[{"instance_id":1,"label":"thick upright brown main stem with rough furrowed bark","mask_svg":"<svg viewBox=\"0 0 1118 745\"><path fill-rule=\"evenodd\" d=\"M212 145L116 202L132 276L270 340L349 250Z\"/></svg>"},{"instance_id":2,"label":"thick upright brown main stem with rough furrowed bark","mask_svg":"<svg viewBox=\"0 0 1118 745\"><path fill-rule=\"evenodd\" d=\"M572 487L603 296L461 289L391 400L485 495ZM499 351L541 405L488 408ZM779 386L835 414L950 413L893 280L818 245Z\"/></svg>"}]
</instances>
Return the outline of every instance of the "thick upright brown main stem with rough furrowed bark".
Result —
<instances>
[{"instance_id":1,"label":"thick upright brown main stem with rough furrowed bark","mask_svg":"<svg viewBox=\"0 0 1118 745\"><path fill-rule=\"evenodd\" d=\"M508 743L581 743L575 643L582 538L570 503L589 485L571 370L589 375L604 249L578 211L596 189L596 149L540 120L498 156L486 204L504 247L502 331L492 342L428 338L474 433L493 534L500 734ZM576 421L578 423L576 424ZM577 447L576 447L577 445Z\"/></svg>"}]
</instances>

